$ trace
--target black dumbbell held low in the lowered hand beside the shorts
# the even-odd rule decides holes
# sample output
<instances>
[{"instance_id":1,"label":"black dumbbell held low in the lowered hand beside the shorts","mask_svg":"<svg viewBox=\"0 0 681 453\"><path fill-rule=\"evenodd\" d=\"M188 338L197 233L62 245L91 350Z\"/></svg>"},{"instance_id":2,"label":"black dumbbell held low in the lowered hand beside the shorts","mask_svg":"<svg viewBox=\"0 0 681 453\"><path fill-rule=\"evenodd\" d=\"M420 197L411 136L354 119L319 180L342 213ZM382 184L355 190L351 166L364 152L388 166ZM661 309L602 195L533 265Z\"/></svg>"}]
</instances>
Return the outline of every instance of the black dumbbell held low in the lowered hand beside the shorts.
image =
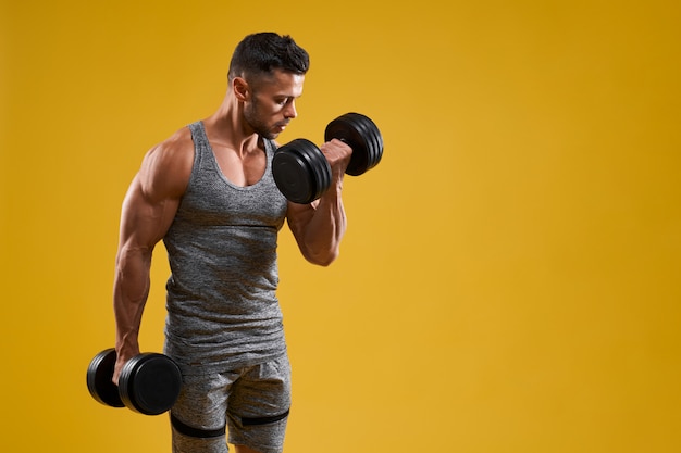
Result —
<instances>
[{"instance_id":1,"label":"black dumbbell held low in the lowered hand beside the shorts","mask_svg":"<svg viewBox=\"0 0 681 453\"><path fill-rule=\"evenodd\" d=\"M87 388L95 400L111 407L128 407L145 415L159 415L177 401L182 388L179 367L163 354L144 353L125 363L119 386L112 381L115 349L95 355L87 368Z\"/></svg>"}]
</instances>

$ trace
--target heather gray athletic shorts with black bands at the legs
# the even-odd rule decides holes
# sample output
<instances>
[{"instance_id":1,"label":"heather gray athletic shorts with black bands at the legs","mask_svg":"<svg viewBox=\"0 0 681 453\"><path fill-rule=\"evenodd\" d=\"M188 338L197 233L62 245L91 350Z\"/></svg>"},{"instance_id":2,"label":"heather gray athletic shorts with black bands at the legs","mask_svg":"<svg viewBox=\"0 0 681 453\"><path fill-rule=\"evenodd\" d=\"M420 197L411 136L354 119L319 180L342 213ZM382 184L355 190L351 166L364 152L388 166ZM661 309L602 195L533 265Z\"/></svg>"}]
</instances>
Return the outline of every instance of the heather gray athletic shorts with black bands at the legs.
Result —
<instances>
[{"instance_id":1,"label":"heather gray athletic shorts with black bands at the legs","mask_svg":"<svg viewBox=\"0 0 681 453\"><path fill-rule=\"evenodd\" d=\"M171 410L173 453L226 453L228 442L281 453L290 407L286 355L272 362L206 376L183 376Z\"/></svg>"}]
</instances>

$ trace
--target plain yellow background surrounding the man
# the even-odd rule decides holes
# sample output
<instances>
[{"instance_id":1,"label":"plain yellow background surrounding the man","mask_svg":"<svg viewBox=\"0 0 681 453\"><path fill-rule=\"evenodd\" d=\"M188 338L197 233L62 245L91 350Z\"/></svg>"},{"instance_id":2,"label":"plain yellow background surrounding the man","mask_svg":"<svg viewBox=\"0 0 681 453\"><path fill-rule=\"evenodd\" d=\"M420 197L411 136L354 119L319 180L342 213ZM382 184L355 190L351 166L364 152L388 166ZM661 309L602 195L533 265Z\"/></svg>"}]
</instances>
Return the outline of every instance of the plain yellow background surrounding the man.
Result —
<instances>
[{"instance_id":1,"label":"plain yellow background surrounding the man","mask_svg":"<svg viewBox=\"0 0 681 453\"><path fill-rule=\"evenodd\" d=\"M678 1L9 1L0 10L2 451L170 451L96 403L121 201L219 105L246 34L312 56L321 141L371 116L340 259L281 236L287 453L681 451ZM143 323L162 348L164 250Z\"/></svg>"}]
</instances>

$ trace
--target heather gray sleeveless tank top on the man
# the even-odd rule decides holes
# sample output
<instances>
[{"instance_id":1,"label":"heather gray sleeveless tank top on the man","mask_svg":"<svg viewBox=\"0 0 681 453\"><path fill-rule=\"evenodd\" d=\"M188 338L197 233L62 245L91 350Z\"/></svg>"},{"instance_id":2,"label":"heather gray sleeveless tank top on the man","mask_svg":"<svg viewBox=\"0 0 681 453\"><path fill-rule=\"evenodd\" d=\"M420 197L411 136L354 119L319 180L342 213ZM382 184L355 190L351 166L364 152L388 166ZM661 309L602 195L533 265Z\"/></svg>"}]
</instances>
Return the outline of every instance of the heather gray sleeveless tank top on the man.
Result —
<instances>
[{"instance_id":1,"label":"heather gray sleeveless tank top on the man","mask_svg":"<svg viewBox=\"0 0 681 453\"><path fill-rule=\"evenodd\" d=\"M163 239L171 267L164 352L198 374L285 353L276 240L287 202L272 177L271 141L263 177L239 187L221 172L203 124L189 129L194 167Z\"/></svg>"}]
</instances>

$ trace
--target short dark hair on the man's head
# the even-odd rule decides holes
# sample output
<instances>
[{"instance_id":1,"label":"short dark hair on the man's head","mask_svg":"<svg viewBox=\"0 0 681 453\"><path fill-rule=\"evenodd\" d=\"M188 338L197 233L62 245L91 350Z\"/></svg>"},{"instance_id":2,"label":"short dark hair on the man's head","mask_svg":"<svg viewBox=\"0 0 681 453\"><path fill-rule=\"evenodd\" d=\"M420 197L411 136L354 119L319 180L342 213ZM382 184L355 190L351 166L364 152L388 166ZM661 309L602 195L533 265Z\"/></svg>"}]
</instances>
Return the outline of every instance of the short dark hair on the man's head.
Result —
<instances>
[{"instance_id":1,"label":"short dark hair on the man's head","mask_svg":"<svg viewBox=\"0 0 681 453\"><path fill-rule=\"evenodd\" d=\"M304 75L310 67L308 52L290 36L263 32L246 36L234 50L230 62L230 81L234 77L260 77L274 70Z\"/></svg>"}]
</instances>

